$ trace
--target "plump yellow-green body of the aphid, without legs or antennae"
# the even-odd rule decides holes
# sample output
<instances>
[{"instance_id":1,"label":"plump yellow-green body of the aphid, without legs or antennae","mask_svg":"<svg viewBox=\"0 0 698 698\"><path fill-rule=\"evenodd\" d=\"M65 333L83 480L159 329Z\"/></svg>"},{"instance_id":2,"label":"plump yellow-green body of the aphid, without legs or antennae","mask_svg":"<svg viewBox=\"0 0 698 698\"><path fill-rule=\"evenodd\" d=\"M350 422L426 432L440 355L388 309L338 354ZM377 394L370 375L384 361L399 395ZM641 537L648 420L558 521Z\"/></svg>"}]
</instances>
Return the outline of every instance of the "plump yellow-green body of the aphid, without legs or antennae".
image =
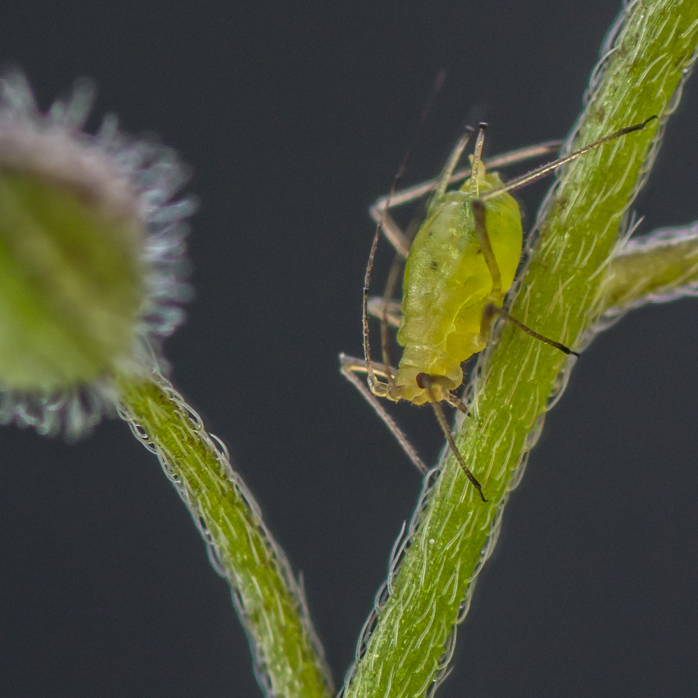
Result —
<instances>
[{"instance_id":1,"label":"plump yellow-green body of the aphid, without legs or antennae","mask_svg":"<svg viewBox=\"0 0 698 698\"><path fill-rule=\"evenodd\" d=\"M398 399L417 404L443 399L461 385L461 363L489 339L481 332L484 306L491 302L492 277L475 234L469 180L434 207L410 248L403 281L404 347L395 376ZM480 191L501 186L498 175L480 178ZM521 216L508 194L487 202L487 229L502 277L502 296L512 284L521 255ZM431 394L416 376L443 376Z\"/></svg>"}]
</instances>

